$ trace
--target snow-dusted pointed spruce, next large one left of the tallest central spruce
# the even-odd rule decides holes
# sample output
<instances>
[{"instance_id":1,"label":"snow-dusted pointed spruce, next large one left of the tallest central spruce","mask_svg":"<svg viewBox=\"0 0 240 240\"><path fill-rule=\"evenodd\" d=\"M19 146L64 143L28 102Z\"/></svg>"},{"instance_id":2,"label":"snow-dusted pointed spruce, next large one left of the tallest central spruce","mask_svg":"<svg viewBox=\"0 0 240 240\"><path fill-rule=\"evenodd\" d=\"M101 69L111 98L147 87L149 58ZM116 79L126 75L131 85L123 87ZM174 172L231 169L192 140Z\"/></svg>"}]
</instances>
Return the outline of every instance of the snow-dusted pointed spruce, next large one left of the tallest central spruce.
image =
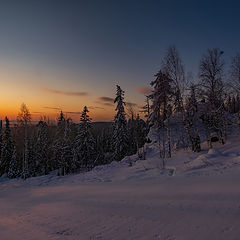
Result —
<instances>
[{"instance_id":1,"label":"snow-dusted pointed spruce, next large one left of the tallest central spruce","mask_svg":"<svg viewBox=\"0 0 240 240\"><path fill-rule=\"evenodd\" d=\"M78 164L82 168L92 168L96 159L95 140L91 133L91 118L89 111L85 106L80 117L78 133L75 139L75 149L78 155Z\"/></svg>"}]
</instances>

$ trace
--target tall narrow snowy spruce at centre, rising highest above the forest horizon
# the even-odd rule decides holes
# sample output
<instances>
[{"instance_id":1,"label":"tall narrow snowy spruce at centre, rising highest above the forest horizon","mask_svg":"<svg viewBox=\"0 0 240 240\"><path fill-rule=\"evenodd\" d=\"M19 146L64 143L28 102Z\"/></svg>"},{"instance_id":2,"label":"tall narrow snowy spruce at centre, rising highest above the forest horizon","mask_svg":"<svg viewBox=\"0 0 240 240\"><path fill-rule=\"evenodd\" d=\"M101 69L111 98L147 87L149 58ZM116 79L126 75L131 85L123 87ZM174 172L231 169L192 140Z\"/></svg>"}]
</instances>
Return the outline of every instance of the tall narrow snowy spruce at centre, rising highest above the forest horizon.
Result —
<instances>
[{"instance_id":1,"label":"tall narrow snowy spruce at centre, rising highest above the forest horizon","mask_svg":"<svg viewBox=\"0 0 240 240\"><path fill-rule=\"evenodd\" d=\"M115 109L117 113L114 118L113 126L113 151L114 160L120 161L128 152L128 132L126 113L124 109L124 91L118 85L114 103L117 103Z\"/></svg>"}]
</instances>

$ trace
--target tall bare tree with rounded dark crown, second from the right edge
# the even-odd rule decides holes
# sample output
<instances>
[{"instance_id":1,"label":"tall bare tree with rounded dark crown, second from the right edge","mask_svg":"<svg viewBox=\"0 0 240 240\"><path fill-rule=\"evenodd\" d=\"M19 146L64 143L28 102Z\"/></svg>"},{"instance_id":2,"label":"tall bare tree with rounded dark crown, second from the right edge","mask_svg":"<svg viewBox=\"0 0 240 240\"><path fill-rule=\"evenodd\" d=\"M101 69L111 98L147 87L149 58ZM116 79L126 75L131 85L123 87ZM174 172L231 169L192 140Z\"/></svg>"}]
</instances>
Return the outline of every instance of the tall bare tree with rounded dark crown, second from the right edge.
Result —
<instances>
[{"instance_id":1,"label":"tall bare tree with rounded dark crown, second from the right edge","mask_svg":"<svg viewBox=\"0 0 240 240\"><path fill-rule=\"evenodd\" d=\"M218 48L208 49L200 61L199 77L207 108L203 114L203 122L208 132L214 131L224 143L226 137L226 119L224 110L224 83L222 59L223 51ZM211 146L211 135L208 136Z\"/></svg>"}]
</instances>

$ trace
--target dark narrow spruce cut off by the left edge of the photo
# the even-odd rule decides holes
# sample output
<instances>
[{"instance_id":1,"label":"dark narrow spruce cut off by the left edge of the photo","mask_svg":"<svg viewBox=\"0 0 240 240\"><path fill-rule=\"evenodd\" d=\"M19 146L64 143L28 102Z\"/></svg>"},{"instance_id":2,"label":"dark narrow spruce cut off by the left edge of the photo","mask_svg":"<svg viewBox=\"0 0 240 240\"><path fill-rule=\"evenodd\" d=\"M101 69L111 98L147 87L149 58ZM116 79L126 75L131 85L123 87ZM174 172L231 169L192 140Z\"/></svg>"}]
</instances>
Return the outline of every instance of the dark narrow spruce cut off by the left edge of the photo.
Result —
<instances>
[{"instance_id":1,"label":"dark narrow spruce cut off by the left edge of the photo","mask_svg":"<svg viewBox=\"0 0 240 240\"><path fill-rule=\"evenodd\" d=\"M2 140L2 152L1 152L1 162L0 162L0 176L4 173L8 173L9 164L12 159L14 150L14 144L11 136L10 123L8 118L5 118L5 129L3 133Z\"/></svg>"}]
</instances>

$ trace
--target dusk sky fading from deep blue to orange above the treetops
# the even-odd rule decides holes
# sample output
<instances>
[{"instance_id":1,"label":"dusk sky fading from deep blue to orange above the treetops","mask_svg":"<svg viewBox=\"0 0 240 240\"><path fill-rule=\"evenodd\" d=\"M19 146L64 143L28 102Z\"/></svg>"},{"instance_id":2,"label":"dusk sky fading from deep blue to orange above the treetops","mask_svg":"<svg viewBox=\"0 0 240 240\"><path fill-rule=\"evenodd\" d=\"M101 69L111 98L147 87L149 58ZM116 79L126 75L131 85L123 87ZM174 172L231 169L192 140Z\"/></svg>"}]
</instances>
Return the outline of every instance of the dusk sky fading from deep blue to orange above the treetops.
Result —
<instances>
[{"instance_id":1,"label":"dusk sky fading from deep blue to orange above the treetops","mask_svg":"<svg viewBox=\"0 0 240 240\"><path fill-rule=\"evenodd\" d=\"M0 0L0 118L111 121L116 84L139 110L169 45L198 76L208 48L240 51L238 1Z\"/></svg>"}]
</instances>

